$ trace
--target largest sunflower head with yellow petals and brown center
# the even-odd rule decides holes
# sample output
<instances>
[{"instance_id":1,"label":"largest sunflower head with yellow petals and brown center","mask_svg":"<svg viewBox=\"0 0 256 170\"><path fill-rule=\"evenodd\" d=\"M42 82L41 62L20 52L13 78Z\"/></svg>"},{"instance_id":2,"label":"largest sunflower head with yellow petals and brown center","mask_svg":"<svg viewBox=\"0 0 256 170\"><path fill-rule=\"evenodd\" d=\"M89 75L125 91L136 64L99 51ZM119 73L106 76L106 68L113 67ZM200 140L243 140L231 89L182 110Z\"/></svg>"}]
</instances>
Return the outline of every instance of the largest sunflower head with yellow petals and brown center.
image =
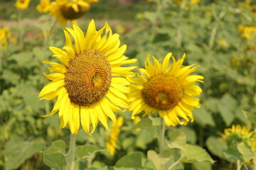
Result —
<instances>
[{"instance_id":1,"label":"largest sunflower head with yellow petals and brown center","mask_svg":"<svg viewBox=\"0 0 256 170\"><path fill-rule=\"evenodd\" d=\"M66 28L64 33L64 50L50 47L53 57L57 57L64 65L43 62L52 66L48 67L52 73L43 73L52 81L41 90L39 97L47 100L58 97L53 110L44 116L58 112L60 128L68 125L70 131L76 134L81 123L85 132L91 135L99 120L107 129L108 117L112 121L116 120L113 111L122 112L119 106L128 108L124 93L129 93L126 86L129 81L124 77L134 76L131 70L136 67L121 66L137 60L124 57L127 46L119 47L119 35L112 34L107 22L97 31L92 20L86 35L75 25L73 29Z\"/></svg>"}]
</instances>

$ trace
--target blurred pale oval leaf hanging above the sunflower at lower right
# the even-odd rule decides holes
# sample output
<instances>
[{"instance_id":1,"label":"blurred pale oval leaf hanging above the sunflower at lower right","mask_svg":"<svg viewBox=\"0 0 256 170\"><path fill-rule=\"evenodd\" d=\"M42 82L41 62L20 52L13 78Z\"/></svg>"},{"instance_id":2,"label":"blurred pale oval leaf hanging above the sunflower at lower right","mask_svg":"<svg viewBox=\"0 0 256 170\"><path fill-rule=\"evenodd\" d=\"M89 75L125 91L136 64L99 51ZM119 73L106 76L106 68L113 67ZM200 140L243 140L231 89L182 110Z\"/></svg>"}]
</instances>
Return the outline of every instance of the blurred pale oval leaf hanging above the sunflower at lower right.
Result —
<instances>
[{"instance_id":1,"label":"blurred pale oval leaf hanging above the sunflower at lower right","mask_svg":"<svg viewBox=\"0 0 256 170\"><path fill-rule=\"evenodd\" d=\"M220 103L218 103L218 108L220 115L223 118L225 125L230 126L230 124L235 119L235 109L237 108L238 102L230 96L230 94L225 94L221 98Z\"/></svg>"}]
</instances>

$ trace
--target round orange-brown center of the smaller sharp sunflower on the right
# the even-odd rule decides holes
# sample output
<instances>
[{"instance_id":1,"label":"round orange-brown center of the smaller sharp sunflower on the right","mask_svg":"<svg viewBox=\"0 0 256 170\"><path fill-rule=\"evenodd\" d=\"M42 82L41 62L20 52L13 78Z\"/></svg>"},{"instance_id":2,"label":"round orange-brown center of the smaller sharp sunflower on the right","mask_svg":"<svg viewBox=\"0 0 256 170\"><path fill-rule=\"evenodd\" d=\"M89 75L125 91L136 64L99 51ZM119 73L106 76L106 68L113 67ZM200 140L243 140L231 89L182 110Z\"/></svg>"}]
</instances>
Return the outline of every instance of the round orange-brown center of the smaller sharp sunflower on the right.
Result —
<instances>
[{"instance_id":1,"label":"round orange-brown center of the smaller sharp sunflower on the right","mask_svg":"<svg viewBox=\"0 0 256 170\"><path fill-rule=\"evenodd\" d=\"M175 77L157 75L144 84L142 97L152 108L169 110L181 101L183 89Z\"/></svg>"}]
</instances>

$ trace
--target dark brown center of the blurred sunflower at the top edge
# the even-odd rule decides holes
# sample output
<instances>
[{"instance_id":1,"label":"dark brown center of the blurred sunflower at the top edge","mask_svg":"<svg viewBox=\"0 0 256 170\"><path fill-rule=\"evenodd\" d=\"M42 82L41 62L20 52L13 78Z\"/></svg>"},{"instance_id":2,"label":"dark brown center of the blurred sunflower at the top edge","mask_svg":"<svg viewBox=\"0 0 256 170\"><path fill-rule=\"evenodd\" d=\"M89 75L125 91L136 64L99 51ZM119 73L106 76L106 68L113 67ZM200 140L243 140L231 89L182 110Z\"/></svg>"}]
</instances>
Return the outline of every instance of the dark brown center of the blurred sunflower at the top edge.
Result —
<instances>
[{"instance_id":1,"label":"dark brown center of the blurred sunflower at the top edge","mask_svg":"<svg viewBox=\"0 0 256 170\"><path fill-rule=\"evenodd\" d=\"M75 20L82 17L87 11L89 7L78 5L78 11L75 11L72 6L67 6L66 4L61 6L60 11L63 14L64 18L68 20Z\"/></svg>"}]
</instances>

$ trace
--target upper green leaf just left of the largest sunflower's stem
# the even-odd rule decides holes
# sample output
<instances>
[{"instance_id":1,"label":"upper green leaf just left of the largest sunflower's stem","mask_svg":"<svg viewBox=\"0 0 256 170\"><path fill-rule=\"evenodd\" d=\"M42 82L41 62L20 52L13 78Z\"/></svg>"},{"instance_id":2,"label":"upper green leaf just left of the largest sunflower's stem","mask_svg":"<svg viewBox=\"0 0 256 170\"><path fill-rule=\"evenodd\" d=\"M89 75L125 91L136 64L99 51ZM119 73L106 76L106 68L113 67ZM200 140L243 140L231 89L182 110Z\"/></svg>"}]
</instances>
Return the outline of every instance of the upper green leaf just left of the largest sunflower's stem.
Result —
<instances>
[{"instance_id":1,"label":"upper green leaf just left of the largest sunflower's stem","mask_svg":"<svg viewBox=\"0 0 256 170\"><path fill-rule=\"evenodd\" d=\"M63 140L56 140L46 149L43 154L53 154L53 153L62 153L63 155L66 154L65 152L65 142Z\"/></svg>"}]
</instances>

